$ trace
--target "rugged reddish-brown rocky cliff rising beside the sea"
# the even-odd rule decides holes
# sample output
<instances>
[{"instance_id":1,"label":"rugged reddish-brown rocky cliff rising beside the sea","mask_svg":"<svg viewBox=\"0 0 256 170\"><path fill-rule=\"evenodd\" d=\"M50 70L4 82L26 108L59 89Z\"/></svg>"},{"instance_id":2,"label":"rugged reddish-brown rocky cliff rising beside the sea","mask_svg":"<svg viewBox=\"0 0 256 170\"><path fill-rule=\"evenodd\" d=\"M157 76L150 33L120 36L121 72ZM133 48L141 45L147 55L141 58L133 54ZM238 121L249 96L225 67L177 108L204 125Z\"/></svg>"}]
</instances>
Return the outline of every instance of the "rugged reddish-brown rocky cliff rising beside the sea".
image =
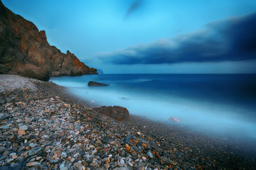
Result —
<instances>
[{"instance_id":1,"label":"rugged reddish-brown rocky cliff rising beside the sea","mask_svg":"<svg viewBox=\"0 0 256 170\"><path fill-rule=\"evenodd\" d=\"M11 12L0 1L0 74L45 80L51 76L97 74L74 54L47 42L46 31Z\"/></svg>"}]
</instances>

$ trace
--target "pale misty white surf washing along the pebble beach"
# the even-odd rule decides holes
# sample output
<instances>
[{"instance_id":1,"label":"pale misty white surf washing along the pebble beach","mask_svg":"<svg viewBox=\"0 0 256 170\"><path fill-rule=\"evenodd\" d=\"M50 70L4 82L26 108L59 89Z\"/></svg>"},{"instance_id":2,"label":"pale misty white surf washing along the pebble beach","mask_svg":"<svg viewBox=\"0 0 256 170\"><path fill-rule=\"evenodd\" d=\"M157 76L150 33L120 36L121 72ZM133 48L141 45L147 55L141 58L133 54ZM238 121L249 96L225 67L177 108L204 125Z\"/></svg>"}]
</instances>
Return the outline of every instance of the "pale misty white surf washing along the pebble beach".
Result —
<instances>
[{"instance_id":1,"label":"pale misty white surf washing along the pebble beach","mask_svg":"<svg viewBox=\"0 0 256 170\"><path fill-rule=\"evenodd\" d=\"M151 95L143 91L120 89L118 86L88 87L87 82L56 81L69 86L70 92L87 100L105 106L124 106L129 113L158 121L169 121L174 117L181 120L178 125L210 132L222 136L248 137L256 140L256 123L242 118L246 108L235 108L220 103L189 101L177 96Z\"/></svg>"}]
</instances>

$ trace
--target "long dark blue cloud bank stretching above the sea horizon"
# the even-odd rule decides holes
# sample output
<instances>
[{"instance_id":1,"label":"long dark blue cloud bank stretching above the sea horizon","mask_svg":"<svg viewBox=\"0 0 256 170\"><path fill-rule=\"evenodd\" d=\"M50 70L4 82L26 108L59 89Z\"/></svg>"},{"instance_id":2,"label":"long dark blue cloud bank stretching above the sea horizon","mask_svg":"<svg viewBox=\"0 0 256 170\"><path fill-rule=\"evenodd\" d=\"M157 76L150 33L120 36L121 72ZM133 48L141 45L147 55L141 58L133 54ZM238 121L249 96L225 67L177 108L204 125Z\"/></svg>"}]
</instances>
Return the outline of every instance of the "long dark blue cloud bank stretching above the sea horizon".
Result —
<instances>
[{"instance_id":1,"label":"long dark blue cloud bank stretching above the sea horizon","mask_svg":"<svg viewBox=\"0 0 256 170\"><path fill-rule=\"evenodd\" d=\"M113 64L223 62L256 59L256 13L207 24L203 30L175 38L105 52Z\"/></svg>"}]
</instances>

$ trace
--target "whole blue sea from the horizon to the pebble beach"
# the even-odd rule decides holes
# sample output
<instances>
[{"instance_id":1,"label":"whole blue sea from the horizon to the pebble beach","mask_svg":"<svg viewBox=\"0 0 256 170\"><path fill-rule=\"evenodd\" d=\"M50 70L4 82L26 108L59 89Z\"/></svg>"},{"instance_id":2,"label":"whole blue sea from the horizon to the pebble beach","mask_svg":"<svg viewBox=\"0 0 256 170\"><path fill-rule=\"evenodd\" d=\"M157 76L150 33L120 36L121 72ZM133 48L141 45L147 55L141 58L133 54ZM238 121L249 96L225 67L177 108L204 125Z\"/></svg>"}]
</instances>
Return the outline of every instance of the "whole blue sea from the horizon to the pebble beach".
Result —
<instances>
[{"instance_id":1,"label":"whole blue sea from the horizon to the pebble beach","mask_svg":"<svg viewBox=\"0 0 256 170\"><path fill-rule=\"evenodd\" d=\"M151 120L256 141L256 74L100 74L50 81L91 106L124 106ZM110 86L90 87L89 81Z\"/></svg>"}]
</instances>

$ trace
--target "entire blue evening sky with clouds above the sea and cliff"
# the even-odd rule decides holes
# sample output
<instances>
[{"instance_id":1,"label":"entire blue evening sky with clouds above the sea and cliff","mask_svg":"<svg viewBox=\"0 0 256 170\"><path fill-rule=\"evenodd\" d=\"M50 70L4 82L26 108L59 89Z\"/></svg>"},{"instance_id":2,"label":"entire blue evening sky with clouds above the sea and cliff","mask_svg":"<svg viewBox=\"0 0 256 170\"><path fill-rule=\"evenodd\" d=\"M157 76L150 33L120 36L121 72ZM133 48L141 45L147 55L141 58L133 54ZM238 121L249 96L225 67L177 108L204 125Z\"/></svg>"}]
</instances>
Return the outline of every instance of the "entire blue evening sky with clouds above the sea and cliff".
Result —
<instances>
[{"instance_id":1,"label":"entire blue evening sky with clouds above the sea and cliff","mask_svg":"<svg viewBox=\"0 0 256 170\"><path fill-rule=\"evenodd\" d=\"M256 73L255 0L2 0L105 73Z\"/></svg>"}]
</instances>

